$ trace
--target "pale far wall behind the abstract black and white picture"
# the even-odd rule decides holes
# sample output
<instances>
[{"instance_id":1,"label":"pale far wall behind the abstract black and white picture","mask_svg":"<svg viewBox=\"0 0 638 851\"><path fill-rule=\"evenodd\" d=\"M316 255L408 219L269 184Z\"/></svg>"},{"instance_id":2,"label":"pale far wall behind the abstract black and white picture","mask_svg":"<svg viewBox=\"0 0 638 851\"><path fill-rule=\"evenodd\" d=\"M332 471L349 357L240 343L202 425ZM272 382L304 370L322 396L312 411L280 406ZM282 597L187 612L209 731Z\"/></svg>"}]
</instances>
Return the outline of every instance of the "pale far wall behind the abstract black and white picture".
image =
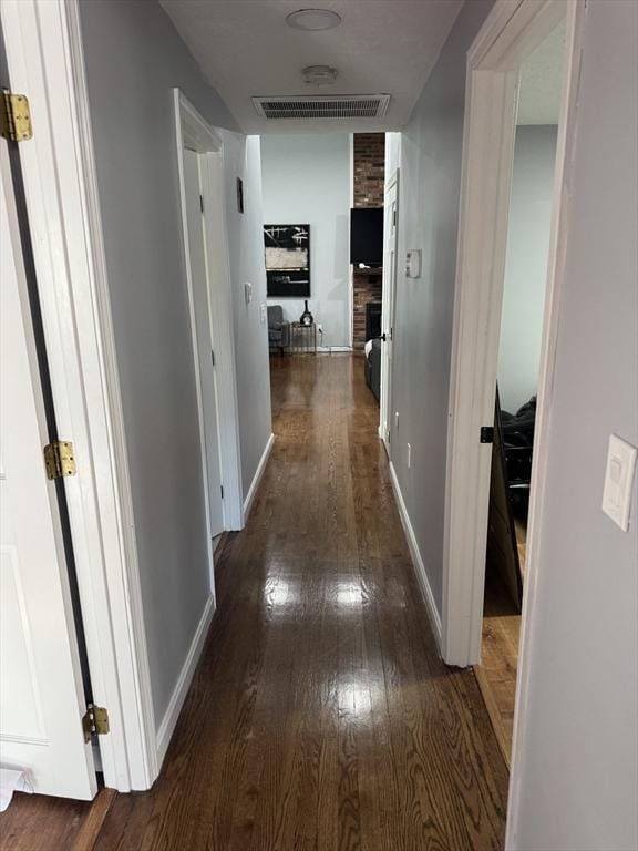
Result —
<instances>
[{"instance_id":1,"label":"pale far wall behind the abstract black and white picture","mask_svg":"<svg viewBox=\"0 0 638 851\"><path fill-rule=\"evenodd\" d=\"M261 140L264 221L310 225L310 299L325 346L350 345L350 137L267 135ZM286 319L303 299L272 298ZM319 340L319 344L321 340Z\"/></svg>"}]
</instances>

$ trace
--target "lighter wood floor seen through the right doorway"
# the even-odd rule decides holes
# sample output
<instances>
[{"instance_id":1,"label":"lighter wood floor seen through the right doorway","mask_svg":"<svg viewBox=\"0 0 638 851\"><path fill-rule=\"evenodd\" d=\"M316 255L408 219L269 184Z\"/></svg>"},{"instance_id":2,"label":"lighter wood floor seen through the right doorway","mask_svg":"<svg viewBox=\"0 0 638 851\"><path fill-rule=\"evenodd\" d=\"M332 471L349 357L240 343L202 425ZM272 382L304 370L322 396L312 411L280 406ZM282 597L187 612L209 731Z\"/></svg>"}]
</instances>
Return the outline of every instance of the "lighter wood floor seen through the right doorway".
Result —
<instances>
[{"instance_id":1,"label":"lighter wood floor seen through the right doorway","mask_svg":"<svg viewBox=\"0 0 638 851\"><path fill-rule=\"evenodd\" d=\"M527 529L519 520L515 521L515 529L521 572L525 576ZM521 615L514 607L500 576L488 573L485 577L481 665L476 665L474 673L481 686L501 752L508 766L512 757L519 634Z\"/></svg>"}]
</instances>

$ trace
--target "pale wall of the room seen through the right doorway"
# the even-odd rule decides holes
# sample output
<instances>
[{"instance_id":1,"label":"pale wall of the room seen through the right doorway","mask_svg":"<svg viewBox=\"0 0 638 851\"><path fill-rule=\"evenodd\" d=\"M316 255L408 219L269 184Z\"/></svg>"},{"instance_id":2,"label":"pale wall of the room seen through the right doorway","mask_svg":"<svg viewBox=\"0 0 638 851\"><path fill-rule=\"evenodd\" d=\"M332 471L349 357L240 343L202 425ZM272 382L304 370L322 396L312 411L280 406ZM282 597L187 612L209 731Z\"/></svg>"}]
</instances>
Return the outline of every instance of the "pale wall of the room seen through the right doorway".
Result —
<instances>
[{"instance_id":1,"label":"pale wall of the room seen through the right doorway","mask_svg":"<svg viewBox=\"0 0 638 851\"><path fill-rule=\"evenodd\" d=\"M501 407L536 393L554 199L557 127L516 129L498 351Z\"/></svg>"}]
</instances>

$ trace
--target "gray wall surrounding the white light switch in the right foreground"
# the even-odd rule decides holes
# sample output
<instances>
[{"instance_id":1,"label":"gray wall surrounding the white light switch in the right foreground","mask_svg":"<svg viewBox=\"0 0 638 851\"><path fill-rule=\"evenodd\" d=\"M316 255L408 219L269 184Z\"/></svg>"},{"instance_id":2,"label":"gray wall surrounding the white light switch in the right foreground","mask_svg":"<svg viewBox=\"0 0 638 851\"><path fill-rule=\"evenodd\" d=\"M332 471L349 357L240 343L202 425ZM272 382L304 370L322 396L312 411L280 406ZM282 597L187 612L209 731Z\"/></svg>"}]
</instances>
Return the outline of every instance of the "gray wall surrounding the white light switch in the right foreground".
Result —
<instances>
[{"instance_id":1,"label":"gray wall surrounding the white light switch in the right foreground","mask_svg":"<svg viewBox=\"0 0 638 851\"><path fill-rule=\"evenodd\" d=\"M588 4L566 267L525 648L511 848L638 848L638 494L600 501L609 434L638 444L638 4Z\"/></svg>"}]
</instances>

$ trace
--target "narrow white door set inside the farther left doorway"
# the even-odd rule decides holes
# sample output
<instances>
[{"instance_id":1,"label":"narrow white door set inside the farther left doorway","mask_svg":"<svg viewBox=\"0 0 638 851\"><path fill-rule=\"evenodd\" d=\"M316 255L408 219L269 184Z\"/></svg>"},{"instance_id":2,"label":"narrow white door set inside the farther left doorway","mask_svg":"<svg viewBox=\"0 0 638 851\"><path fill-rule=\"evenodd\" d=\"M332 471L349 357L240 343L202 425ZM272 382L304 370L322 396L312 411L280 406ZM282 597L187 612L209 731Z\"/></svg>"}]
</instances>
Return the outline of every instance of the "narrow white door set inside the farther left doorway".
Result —
<instances>
[{"instance_id":1,"label":"narrow white door set inside the farther left doorway","mask_svg":"<svg viewBox=\"0 0 638 851\"><path fill-rule=\"evenodd\" d=\"M204 211L199 176L199 154L184 150L184 191L186 195L186 226L188 230L188 264L191 269L191 297L195 319L195 348L198 369L198 393L204 455L208 485L208 513L210 535L224 531L224 504L222 500L222 465L219 460L219 429L217 423L217 393L206 245L204 242Z\"/></svg>"}]
</instances>

